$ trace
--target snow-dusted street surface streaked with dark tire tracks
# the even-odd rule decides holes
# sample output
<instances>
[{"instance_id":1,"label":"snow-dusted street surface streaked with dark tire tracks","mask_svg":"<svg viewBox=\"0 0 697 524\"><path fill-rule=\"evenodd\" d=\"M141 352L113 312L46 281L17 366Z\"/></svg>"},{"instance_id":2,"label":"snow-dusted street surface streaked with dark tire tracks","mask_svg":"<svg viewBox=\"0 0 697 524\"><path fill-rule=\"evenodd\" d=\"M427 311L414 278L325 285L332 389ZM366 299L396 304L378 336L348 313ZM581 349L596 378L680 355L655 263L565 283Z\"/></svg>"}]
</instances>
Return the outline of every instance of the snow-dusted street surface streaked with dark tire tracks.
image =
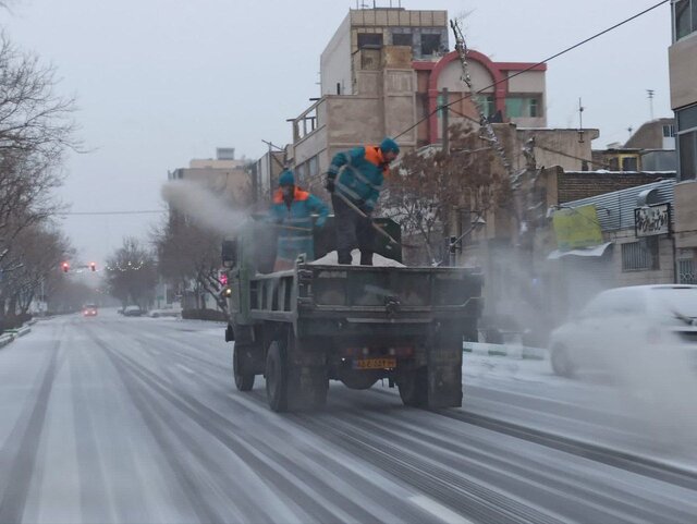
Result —
<instances>
[{"instance_id":1,"label":"snow-dusted street surface streaked with dark tire tracks","mask_svg":"<svg viewBox=\"0 0 697 524\"><path fill-rule=\"evenodd\" d=\"M467 355L462 410L332 382L326 411L278 415L231 349L110 310L1 349L0 522L697 522L693 435L607 378Z\"/></svg>"}]
</instances>

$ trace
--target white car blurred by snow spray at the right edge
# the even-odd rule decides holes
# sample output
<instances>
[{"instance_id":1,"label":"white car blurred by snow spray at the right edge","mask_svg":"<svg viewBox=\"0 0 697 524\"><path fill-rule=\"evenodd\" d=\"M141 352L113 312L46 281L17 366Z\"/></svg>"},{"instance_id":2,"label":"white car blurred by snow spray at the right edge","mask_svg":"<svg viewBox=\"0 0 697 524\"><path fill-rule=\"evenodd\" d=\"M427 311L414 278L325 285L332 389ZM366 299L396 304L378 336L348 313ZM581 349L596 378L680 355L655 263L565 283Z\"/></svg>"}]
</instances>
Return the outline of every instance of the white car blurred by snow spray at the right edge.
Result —
<instances>
[{"instance_id":1,"label":"white car blurred by snow spray at the right edge","mask_svg":"<svg viewBox=\"0 0 697 524\"><path fill-rule=\"evenodd\" d=\"M550 334L557 375L650 367L658 358L697 365L697 285L635 285L603 291Z\"/></svg>"}]
</instances>

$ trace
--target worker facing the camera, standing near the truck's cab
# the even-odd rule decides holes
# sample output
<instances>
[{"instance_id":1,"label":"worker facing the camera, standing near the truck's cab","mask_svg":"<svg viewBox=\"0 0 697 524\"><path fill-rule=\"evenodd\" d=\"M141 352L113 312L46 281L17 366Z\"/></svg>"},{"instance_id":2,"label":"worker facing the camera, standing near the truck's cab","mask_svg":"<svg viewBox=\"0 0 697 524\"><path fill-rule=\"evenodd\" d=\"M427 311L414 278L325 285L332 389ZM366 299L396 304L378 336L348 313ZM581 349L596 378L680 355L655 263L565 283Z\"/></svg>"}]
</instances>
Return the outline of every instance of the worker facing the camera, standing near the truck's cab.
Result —
<instances>
[{"instance_id":1,"label":"worker facing the camera, standing near the truck's cab","mask_svg":"<svg viewBox=\"0 0 697 524\"><path fill-rule=\"evenodd\" d=\"M322 228L329 208L316 196L297 187L292 171L283 171L269 211L270 220L279 228L274 271L293 268L295 259L303 253L308 261L315 258L313 214L319 216L315 226Z\"/></svg>"}]
</instances>

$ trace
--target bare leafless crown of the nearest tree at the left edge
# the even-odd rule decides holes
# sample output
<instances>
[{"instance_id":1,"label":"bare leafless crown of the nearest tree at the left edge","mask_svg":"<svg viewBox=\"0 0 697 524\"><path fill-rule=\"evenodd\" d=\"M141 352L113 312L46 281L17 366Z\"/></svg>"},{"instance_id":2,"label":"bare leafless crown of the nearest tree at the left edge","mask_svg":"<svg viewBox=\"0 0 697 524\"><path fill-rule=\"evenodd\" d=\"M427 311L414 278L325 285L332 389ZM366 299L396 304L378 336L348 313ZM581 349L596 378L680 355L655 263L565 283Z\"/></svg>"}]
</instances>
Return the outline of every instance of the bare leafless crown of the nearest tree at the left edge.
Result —
<instances>
[{"instance_id":1,"label":"bare leafless crown of the nearest tree at the left edge","mask_svg":"<svg viewBox=\"0 0 697 524\"><path fill-rule=\"evenodd\" d=\"M54 70L0 35L0 263L22 229L57 208L66 148L77 148L74 100L56 93Z\"/></svg>"}]
</instances>

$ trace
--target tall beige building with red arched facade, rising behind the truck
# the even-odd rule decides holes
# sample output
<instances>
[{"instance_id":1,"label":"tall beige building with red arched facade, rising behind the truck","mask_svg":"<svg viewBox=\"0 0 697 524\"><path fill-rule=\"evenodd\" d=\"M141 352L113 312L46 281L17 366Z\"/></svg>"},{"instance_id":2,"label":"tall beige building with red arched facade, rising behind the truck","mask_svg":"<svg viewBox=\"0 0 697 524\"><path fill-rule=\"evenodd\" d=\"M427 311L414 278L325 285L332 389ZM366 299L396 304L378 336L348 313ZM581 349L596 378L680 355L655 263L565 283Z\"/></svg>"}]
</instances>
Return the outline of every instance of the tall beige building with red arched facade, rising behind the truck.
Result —
<instances>
[{"instance_id":1,"label":"tall beige building with red arched facade, rising behind the truck","mask_svg":"<svg viewBox=\"0 0 697 524\"><path fill-rule=\"evenodd\" d=\"M348 11L321 56L321 98L293 121L290 160L302 181L326 171L337 151L386 135L405 149L440 141L438 107L451 103L451 123L475 118L472 92L481 92L477 101L498 122L547 125L546 65L470 50L470 89L448 31L447 11Z\"/></svg>"}]
</instances>

